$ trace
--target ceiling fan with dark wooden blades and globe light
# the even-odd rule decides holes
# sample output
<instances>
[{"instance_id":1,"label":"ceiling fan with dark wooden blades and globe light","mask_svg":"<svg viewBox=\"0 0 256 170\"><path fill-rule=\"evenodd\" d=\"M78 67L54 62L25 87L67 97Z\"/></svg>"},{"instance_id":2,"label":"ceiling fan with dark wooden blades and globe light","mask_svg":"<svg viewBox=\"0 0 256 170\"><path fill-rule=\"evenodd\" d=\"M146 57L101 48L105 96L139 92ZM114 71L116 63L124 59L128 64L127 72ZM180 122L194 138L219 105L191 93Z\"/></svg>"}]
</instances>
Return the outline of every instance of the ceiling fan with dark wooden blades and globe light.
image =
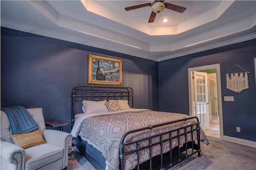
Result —
<instances>
[{"instance_id":1,"label":"ceiling fan with dark wooden blades and globe light","mask_svg":"<svg viewBox=\"0 0 256 170\"><path fill-rule=\"evenodd\" d=\"M167 8L169 10L173 10L176 12L180 12L180 13L182 13L186 10L186 8L184 8L182 6L170 4L168 2L164 3L164 0L152 0L151 3L130 6L130 7L124 8L124 9L126 11L129 11L129 10L134 10L134 9L142 8L142 7L146 7L146 6L152 6L152 12L151 12L150 18L148 20L149 23L154 22L156 13L163 12L164 8Z\"/></svg>"}]
</instances>

